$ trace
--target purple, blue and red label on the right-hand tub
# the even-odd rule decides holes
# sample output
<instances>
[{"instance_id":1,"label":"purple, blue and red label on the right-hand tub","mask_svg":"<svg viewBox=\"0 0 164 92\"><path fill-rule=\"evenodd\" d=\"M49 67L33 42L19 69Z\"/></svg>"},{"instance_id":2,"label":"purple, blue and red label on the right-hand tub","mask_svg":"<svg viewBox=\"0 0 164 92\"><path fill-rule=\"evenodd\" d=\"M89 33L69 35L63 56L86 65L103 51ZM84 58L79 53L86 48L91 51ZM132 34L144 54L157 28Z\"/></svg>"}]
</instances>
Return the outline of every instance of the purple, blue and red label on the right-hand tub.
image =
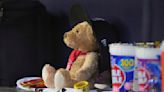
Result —
<instances>
[{"instance_id":1,"label":"purple, blue and red label on the right-hand tub","mask_svg":"<svg viewBox=\"0 0 164 92\"><path fill-rule=\"evenodd\" d=\"M161 65L159 59L137 59L139 91L161 92Z\"/></svg>"}]
</instances>

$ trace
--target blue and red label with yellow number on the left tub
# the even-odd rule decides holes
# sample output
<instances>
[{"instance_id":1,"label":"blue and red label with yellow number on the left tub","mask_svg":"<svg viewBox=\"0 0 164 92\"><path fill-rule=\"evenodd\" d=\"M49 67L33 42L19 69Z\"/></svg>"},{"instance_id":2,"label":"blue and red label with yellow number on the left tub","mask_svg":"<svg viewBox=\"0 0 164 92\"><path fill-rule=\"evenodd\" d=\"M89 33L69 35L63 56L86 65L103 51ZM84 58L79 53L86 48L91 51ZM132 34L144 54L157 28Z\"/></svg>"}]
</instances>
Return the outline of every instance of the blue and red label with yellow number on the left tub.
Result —
<instances>
[{"instance_id":1,"label":"blue and red label with yellow number on the left tub","mask_svg":"<svg viewBox=\"0 0 164 92\"><path fill-rule=\"evenodd\" d=\"M124 84L133 81L134 56L111 55L111 63L113 88L119 89L119 92L125 92Z\"/></svg>"}]
</instances>

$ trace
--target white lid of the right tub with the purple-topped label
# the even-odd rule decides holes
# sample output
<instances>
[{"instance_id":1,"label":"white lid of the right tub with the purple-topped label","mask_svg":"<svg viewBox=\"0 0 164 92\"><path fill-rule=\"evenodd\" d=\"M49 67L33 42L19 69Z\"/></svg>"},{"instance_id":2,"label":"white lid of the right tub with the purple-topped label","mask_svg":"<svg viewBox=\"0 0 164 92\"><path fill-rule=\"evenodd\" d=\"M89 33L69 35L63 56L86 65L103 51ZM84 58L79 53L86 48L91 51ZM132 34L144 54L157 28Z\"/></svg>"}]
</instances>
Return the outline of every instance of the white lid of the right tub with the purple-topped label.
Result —
<instances>
[{"instance_id":1,"label":"white lid of the right tub with the purple-topped label","mask_svg":"<svg viewBox=\"0 0 164 92\"><path fill-rule=\"evenodd\" d=\"M136 47L136 57L140 59L158 59L159 48Z\"/></svg>"}]
</instances>

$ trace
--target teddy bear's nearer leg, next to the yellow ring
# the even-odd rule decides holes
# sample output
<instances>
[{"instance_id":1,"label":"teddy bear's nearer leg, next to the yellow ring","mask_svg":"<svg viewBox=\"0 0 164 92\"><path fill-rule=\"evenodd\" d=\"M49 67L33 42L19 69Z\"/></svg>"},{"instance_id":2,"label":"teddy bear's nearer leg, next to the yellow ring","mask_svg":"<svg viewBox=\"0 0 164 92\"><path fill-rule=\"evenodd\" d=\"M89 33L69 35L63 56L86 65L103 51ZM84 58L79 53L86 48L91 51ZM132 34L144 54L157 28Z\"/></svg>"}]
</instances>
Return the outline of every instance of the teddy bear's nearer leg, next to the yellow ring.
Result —
<instances>
[{"instance_id":1,"label":"teddy bear's nearer leg, next to the yellow ring","mask_svg":"<svg viewBox=\"0 0 164 92\"><path fill-rule=\"evenodd\" d=\"M65 87L73 87L77 81L71 79L69 71L59 69L55 74L54 84L55 88L61 89Z\"/></svg>"}]
</instances>

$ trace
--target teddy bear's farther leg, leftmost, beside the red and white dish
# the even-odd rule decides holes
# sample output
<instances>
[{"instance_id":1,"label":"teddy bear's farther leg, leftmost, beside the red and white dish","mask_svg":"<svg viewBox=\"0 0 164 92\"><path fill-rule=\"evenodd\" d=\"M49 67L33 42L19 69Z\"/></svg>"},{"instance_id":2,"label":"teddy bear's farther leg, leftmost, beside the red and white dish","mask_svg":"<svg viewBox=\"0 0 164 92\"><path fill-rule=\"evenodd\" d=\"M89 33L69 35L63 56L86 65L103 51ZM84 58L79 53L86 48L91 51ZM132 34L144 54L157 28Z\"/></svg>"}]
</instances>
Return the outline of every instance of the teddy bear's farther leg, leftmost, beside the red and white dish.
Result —
<instances>
[{"instance_id":1,"label":"teddy bear's farther leg, leftmost, beside the red and white dish","mask_svg":"<svg viewBox=\"0 0 164 92\"><path fill-rule=\"evenodd\" d=\"M42 78L44 84L48 88L54 88L54 76L56 73L56 69L49 64L45 64L42 69Z\"/></svg>"}]
</instances>

